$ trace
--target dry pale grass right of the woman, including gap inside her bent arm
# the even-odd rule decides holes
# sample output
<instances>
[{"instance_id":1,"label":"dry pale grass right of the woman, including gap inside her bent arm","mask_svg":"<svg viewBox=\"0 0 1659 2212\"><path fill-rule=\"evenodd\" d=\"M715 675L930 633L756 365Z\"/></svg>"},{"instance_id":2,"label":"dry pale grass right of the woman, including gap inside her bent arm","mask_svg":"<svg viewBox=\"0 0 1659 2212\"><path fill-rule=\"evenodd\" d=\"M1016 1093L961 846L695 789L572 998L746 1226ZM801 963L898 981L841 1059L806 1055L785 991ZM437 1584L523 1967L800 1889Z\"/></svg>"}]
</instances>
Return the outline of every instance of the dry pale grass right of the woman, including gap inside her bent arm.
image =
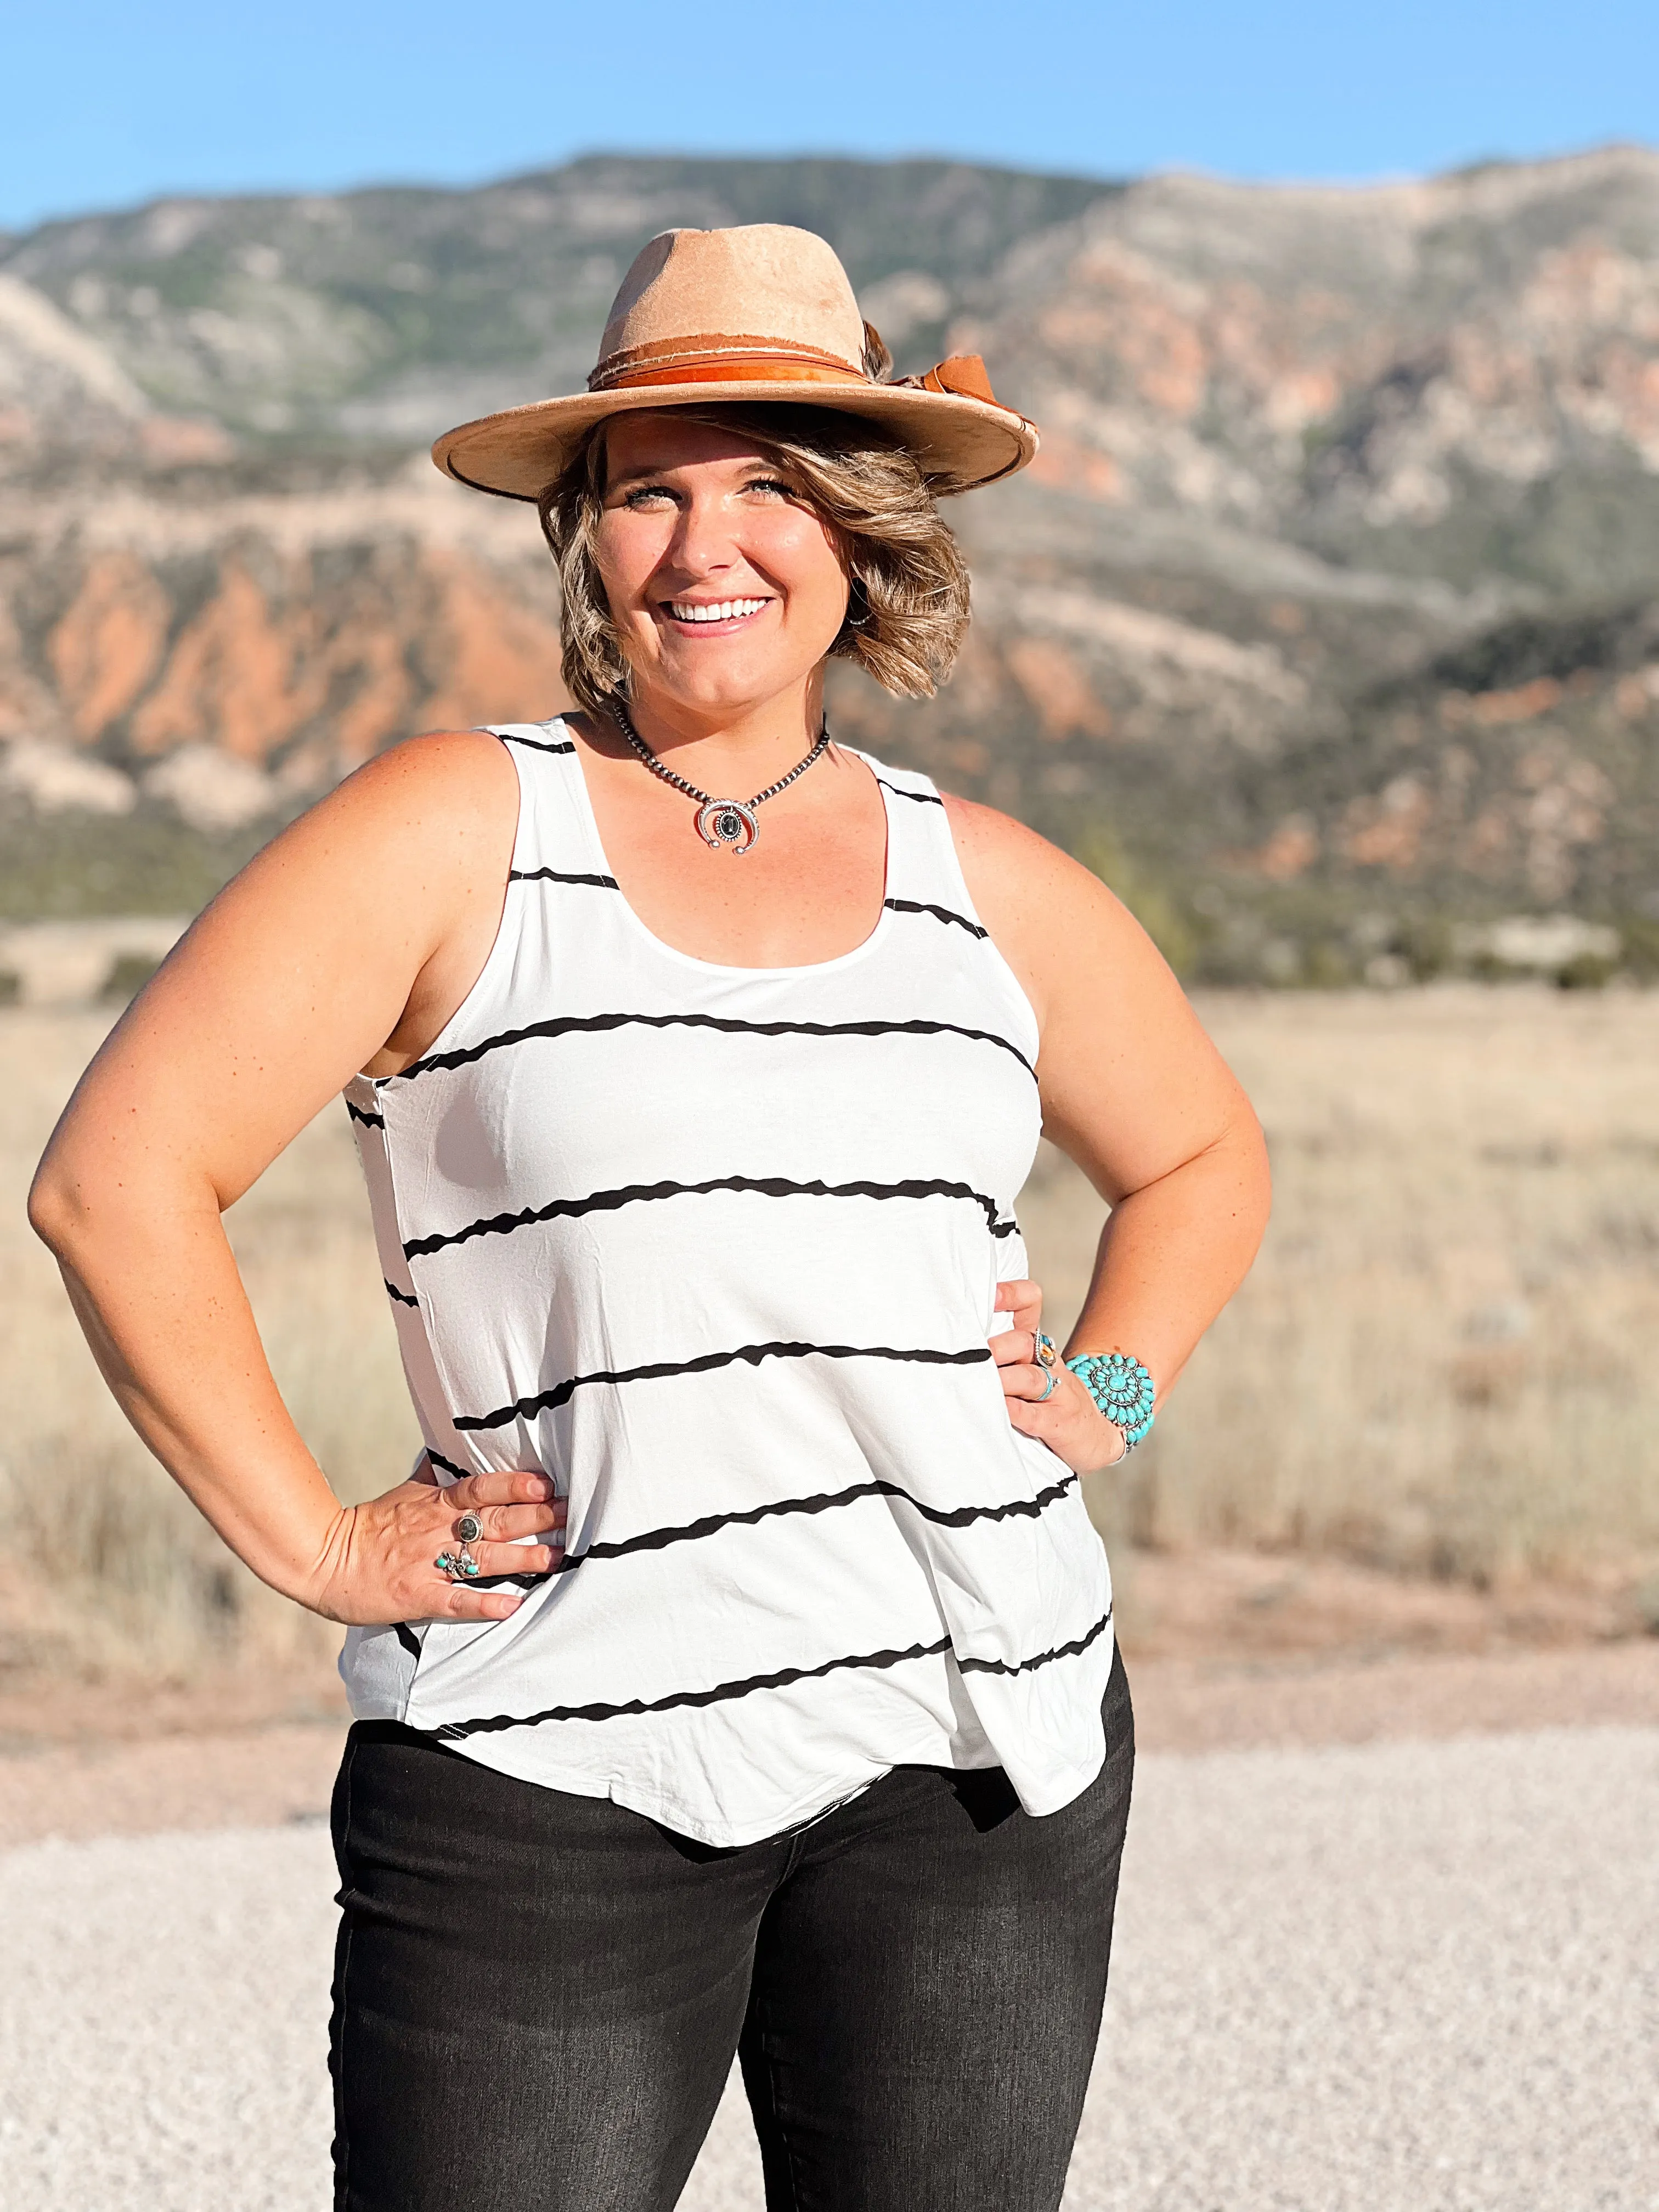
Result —
<instances>
[{"instance_id":1,"label":"dry pale grass right of the woman, including gap inside her bent arm","mask_svg":"<svg viewBox=\"0 0 1659 2212\"><path fill-rule=\"evenodd\" d=\"M1659 995L1208 998L1274 1159L1261 1259L1110 1511L1489 1586L1659 1566ZM1062 1318L1079 1179L1029 1237ZM1659 1599L1659 1593L1650 1593Z\"/></svg>"}]
</instances>

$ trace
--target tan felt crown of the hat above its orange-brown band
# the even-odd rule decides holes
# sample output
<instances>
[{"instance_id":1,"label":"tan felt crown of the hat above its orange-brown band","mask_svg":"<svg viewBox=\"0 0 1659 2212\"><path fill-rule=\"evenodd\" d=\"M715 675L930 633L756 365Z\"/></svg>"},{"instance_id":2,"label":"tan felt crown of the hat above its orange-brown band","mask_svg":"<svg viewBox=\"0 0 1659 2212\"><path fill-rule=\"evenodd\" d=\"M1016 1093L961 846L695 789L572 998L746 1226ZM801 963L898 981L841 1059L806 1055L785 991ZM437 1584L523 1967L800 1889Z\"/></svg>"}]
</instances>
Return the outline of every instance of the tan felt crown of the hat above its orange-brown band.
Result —
<instances>
[{"instance_id":1,"label":"tan felt crown of the hat above its orange-brown band","mask_svg":"<svg viewBox=\"0 0 1659 2212\"><path fill-rule=\"evenodd\" d=\"M622 279L593 374L732 341L827 354L863 376L865 319L834 248L787 223L657 232Z\"/></svg>"}]
</instances>

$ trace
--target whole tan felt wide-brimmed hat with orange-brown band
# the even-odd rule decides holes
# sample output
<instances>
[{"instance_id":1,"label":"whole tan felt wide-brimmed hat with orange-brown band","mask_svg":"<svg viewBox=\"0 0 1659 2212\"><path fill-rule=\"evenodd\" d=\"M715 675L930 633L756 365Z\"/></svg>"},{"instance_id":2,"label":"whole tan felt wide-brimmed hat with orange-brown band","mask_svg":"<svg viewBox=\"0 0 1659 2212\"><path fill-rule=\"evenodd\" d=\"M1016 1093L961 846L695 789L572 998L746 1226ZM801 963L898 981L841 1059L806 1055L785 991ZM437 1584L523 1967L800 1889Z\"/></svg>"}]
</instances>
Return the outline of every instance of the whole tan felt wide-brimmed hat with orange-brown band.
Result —
<instances>
[{"instance_id":1,"label":"whole tan felt wide-brimmed hat with orange-brown band","mask_svg":"<svg viewBox=\"0 0 1659 2212\"><path fill-rule=\"evenodd\" d=\"M586 392L462 422L431 458L478 491L535 500L606 416L721 400L867 416L940 491L1013 476L1037 451L1035 427L998 400L978 354L883 385L865 369L865 336L847 272L812 230L664 230L622 279Z\"/></svg>"}]
</instances>

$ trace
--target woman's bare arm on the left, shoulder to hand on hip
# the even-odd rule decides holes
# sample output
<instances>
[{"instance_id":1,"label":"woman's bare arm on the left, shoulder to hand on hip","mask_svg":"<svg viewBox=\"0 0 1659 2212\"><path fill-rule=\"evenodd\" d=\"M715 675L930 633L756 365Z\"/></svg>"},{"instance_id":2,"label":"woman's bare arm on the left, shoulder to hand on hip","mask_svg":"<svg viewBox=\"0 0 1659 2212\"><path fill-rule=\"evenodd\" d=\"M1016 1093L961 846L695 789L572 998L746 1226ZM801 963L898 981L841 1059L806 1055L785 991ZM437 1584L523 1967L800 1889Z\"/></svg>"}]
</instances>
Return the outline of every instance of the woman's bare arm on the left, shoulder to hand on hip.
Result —
<instances>
[{"instance_id":1,"label":"woman's bare arm on the left, shoulder to hand on hip","mask_svg":"<svg viewBox=\"0 0 1659 2212\"><path fill-rule=\"evenodd\" d=\"M219 1217L358 1068L407 1066L467 995L515 807L511 761L480 732L358 770L219 894L135 1000L29 1199L144 1442L257 1575L334 1619L502 1617L518 1599L436 1573L456 1502L427 1484L341 1506L276 1391ZM495 1475L458 1502L493 1506L487 1533L504 1540L553 1526L549 1500L540 1475ZM551 1557L515 1551L489 1571L509 1564Z\"/></svg>"}]
</instances>

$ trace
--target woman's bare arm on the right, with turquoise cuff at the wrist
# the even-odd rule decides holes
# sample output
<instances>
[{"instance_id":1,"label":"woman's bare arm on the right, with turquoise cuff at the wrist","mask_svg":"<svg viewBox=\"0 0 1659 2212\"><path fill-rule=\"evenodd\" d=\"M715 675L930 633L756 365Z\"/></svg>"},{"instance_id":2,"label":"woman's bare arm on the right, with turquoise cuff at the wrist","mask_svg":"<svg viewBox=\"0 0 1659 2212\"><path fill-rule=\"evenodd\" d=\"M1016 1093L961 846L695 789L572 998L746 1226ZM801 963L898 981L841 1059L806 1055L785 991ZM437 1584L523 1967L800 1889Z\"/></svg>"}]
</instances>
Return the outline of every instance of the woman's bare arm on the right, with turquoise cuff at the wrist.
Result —
<instances>
[{"instance_id":1,"label":"woman's bare arm on the right, with turquoise cuff at the wrist","mask_svg":"<svg viewBox=\"0 0 1659 2212\"><path fill-rule=\"evenodd\" d=\"M1066 1354L1133 1354L1161 1402L1256 1256L1270 1206L1261 1128L1106 885L989 807L947 810L973 902L1037 1013L1044 1130L1113 1206ZM1117 1431L1075 1378L1031 1402L1031 1294L1004 1285L1000 1303L1015 1312L995 1338L1015 1425L1073 1467L1115 1460Z\"/></svg>"}]
</instances>

